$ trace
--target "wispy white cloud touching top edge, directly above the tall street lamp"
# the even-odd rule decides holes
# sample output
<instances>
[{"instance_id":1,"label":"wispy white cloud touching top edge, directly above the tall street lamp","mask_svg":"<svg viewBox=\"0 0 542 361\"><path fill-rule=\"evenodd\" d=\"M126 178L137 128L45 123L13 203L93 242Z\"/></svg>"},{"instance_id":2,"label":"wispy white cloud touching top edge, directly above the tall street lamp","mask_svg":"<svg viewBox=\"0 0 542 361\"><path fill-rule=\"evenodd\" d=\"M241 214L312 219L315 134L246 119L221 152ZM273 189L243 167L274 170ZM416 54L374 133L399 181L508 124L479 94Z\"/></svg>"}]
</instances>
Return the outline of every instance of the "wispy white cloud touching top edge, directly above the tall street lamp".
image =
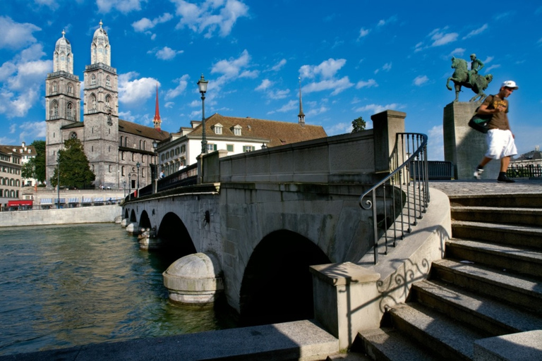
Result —
<instances>
[{"instance_id":1,"label":"wispy white cloud touching top edge, directly above the tall street lamp","mask_svg":"<svg viewBox=\"0 0 542 361\"><path fill-rule=\"evenodd\" d=\"M207 0L191 4L184 0L171 0L176 4L176 15L181 17L177 28L188 27L205 37L219 30L219 35L229 35L238 18L248 16L248 6L239 0Z\"/></svg>"}]
</instances>

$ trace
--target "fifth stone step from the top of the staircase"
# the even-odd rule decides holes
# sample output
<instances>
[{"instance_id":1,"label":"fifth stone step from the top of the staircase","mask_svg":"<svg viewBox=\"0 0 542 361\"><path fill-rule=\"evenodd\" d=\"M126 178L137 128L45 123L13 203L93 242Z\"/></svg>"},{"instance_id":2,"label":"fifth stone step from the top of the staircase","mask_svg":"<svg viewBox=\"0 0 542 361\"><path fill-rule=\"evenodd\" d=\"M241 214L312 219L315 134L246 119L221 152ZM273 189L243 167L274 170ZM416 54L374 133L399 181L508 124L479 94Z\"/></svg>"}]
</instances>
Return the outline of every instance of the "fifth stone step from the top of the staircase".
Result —
<instances>
[{"instance_id":1,"label":"fifth stone step from the top of the staircase","mask_svg":"<svg viewBox=\"0 0 542 361\"><path fill-rule=\"evenodd\" d=\"M476 293L493 296L510 305L517 305L542 314L541 279L452 259L440 259L433 262L430 279L452 283Z\"/></svg>"}]
</instances>

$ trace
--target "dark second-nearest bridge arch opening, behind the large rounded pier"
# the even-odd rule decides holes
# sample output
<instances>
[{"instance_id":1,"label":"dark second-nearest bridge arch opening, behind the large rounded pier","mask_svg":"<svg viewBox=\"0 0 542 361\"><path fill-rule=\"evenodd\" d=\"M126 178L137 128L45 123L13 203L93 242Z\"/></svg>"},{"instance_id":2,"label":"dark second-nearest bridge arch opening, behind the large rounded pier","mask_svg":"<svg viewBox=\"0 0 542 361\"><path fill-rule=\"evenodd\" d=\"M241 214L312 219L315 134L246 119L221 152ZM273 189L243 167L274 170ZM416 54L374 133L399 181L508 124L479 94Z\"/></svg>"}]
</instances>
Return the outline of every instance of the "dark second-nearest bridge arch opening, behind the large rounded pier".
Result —
<instances>
[{"instance_id":1,"label":"dark second-nearest bridge arch opening, behind the large rounded pier","mask_svg":"<svg viewBox=\"0 0 542 361\"><path fill-rule=\"evenodd\" d=\"M167 213L160 221L158 237L164 242L164 250L173 260L198 252L188 229L174 212Z\"/></svg>"}]
</instances>

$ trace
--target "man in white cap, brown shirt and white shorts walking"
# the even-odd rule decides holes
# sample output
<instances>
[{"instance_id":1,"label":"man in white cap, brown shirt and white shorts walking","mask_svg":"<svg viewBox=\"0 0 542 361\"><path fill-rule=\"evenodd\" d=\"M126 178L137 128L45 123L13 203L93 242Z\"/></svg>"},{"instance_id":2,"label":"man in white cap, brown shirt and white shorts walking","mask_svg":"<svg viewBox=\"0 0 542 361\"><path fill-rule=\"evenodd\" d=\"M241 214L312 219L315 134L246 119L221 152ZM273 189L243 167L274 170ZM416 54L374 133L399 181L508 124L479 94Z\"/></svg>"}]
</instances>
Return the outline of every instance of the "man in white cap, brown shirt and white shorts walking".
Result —
<instances>
[{"instance_id":1,"label":"man in white cap, brown shirt and white shorts walking","mask_svg":"<svg viewBox=\"0 0 542 361\"><path fill-rule=\"evenodd\" d=\"M514 181L506 176L510 157L517 154L514 135L510 130L508 123L508 100L510 94L517 90L516 82L507 80L500 85L499 93L487 97L480 108L478 114L491 115L491 120L488 124L488 133L486 141L488 142L488 152L481 160L480 164L474 171L474 178L480 179L483 172L483 167L488 164L491 159L500 159L500 173L497 178L498 182L514 183Z\"/></svg>"}]
</instances>

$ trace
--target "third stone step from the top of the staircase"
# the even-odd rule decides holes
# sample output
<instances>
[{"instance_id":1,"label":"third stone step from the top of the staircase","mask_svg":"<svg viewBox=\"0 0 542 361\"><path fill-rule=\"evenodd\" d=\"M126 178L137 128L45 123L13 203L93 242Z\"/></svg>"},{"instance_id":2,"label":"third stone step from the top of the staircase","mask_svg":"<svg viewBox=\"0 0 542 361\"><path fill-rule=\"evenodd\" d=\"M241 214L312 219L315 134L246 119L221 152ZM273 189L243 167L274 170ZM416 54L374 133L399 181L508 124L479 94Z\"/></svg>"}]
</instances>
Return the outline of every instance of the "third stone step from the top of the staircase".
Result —
<instances>
[{"instance_id":1,"label":"third stone step from the top of the staircase","mask_svg":"<svg viewBox=\"0 0 542 361\"><path fill-rule=\"evenodd\" d=\"M454 238L542 248L542 228L540 227L452 221L452 235Z\"/></svg>"}]
</instances>

